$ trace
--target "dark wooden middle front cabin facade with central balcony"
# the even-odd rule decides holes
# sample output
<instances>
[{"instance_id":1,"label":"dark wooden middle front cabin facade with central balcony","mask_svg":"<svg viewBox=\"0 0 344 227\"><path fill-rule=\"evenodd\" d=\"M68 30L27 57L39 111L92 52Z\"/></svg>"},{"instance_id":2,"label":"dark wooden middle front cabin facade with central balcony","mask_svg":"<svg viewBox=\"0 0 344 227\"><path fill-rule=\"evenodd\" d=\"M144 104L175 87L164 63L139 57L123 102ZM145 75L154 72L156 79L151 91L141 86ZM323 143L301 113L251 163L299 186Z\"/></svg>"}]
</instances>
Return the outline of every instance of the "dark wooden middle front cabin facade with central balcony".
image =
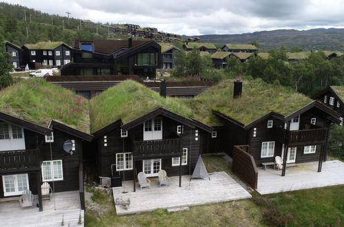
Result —
<instances>
[{"instance_id":1,"label":"dark wooden middle front cabin facade with central balcony","mask_svg":"<svg viewBox=\"0 0 344 227\"><path fill-rule=\"evenodd\" d=\"M99 176L134 180L139 172L156 177L192 174L201 154L201 133L212 128L163 108L125 125L117 120L93 133Z\"/></svg>"}]
</instances>

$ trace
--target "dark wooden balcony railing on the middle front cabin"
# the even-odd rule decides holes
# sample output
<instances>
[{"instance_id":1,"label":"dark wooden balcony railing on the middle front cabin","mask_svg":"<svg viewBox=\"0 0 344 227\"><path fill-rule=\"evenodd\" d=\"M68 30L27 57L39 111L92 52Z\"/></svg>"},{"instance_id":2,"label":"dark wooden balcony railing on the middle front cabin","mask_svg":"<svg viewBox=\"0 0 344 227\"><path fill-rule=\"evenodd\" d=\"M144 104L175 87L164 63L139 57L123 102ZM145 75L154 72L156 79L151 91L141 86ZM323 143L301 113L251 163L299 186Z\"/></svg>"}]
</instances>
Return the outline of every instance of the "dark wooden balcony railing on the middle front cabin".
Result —
<instances>
[{"instance_id":1,"label":"dark wooden balcony railing on the middle front cabin","mask_svg":"<svg viewBox=\"0 0 344 227\"><path fill-rule=\"evenodd\" d=\"M132 142L134 158L163 158L182 155L181 139L144 140Z\"/></svg>"}]
</instances>

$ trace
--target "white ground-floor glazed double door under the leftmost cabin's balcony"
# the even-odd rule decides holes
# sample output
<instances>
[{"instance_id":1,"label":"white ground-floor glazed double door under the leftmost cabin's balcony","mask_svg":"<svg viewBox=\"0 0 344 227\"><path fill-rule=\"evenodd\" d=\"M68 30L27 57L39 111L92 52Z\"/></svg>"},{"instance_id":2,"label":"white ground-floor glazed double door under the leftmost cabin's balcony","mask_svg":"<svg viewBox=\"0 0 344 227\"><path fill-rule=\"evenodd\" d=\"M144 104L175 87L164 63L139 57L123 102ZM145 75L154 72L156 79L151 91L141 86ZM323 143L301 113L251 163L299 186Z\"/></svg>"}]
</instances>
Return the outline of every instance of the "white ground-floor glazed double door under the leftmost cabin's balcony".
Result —
<instances>
[{"instance_id":1,"label":"white ground-floor glazed double door under the leftmost cabin's balcony","mask_svg":"<svg viewBox=\"0 0 344 227\"><path fill-rule=\"evenodd\" d=\"M28 173L3 175L3 196L21 195L29 189Z\"/></svg>"}]
</instances>

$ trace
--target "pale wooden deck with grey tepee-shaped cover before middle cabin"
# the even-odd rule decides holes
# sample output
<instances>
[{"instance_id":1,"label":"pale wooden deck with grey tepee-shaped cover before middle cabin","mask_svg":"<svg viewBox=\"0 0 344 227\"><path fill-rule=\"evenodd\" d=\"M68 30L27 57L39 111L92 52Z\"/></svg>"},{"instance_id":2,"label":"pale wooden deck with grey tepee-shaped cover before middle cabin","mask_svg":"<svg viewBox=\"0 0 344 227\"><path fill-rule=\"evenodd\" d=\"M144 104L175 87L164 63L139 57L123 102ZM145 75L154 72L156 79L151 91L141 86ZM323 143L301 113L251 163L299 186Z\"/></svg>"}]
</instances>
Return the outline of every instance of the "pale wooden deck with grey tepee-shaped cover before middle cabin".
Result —
<instances>
[{"instance_id":1,"label":"pale wooden deck with grey tepee-shaped cover before middle cabin","mask_svg":"<svg viewBox=\"0 0 344 227\"><path fill-rule=\"evenodd\" d=\"M138 189L135 193L132 190L132 181L123 182L124 190L128 193L122 193L123 188L112 188L114 200L130 198L131 202L128 210L121 205L116 206L117 215L142 213L156 208L196 206L252 197L225 172L212 173L210 180L193 179L191 182L189 175L184 175L181 188L179 188L179 177L170 178L170 186L159 188L158 179L152 178L150 188L142 188L140 191L139 186L136 186Z\"/></svg>"}]
</instances>

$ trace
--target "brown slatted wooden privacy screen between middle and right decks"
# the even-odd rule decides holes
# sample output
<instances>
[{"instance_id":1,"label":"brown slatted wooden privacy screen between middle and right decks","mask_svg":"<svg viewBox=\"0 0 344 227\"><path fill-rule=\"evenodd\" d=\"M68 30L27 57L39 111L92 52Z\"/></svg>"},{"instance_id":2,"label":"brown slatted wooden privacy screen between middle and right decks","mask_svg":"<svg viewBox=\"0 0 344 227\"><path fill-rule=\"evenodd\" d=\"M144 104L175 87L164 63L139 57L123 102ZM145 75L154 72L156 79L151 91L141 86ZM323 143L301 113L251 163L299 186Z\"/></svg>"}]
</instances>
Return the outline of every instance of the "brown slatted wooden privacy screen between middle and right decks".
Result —
<instances>
[{"instance_id":1,"label":"brown slatted wooden privacy screen between middle and right decks","mask_svg":"<svg viewBox=\"0 0 344 227\"><path fill-rule=\"evenodd\" d=\"M248 145L234 146L232 171L241 177L241 180L256 189L258 185L258 169L252 155L248 153Z\"/></svg>"}]
</instances>

